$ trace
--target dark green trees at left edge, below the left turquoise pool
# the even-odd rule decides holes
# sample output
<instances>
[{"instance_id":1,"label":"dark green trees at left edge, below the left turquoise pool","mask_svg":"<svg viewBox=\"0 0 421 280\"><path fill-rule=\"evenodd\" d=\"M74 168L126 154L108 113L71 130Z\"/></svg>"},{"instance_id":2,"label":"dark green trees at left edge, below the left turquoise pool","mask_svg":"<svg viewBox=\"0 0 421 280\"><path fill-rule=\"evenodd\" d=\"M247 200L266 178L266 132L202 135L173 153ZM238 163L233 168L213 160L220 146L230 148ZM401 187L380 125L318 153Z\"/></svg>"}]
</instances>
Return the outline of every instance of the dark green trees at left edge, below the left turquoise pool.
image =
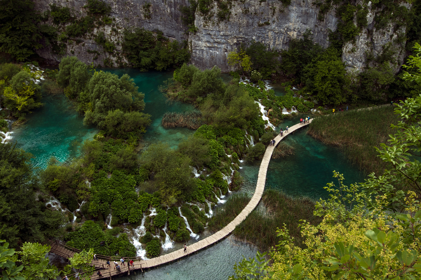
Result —
<instances>
[{"instance_id":1,"label":"dark green trees at left edge, below the left turquoise pool","mask_svg":"<svg viewBox=\"0 0 421 280\"><path fill-rule=\"evenodd\" d=\"M25 241L45 242L62 233L61 211L51 211L35 200L39 184L30 158L11 144L0 145L0 237L15 248Z\"/></svg>"}]
</instances>

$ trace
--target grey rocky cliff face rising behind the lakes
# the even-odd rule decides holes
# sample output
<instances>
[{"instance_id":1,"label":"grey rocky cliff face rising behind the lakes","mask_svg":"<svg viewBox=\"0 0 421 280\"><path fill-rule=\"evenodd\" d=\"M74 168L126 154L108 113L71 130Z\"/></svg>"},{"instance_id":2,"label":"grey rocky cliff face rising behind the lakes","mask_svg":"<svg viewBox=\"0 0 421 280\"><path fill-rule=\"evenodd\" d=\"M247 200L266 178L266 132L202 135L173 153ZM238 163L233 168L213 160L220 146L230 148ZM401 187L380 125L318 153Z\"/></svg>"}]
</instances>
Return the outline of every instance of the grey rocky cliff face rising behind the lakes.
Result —
<instances>
[{"instance_id":1,"label":"grey rocky cliff face rising behind the lakes","mask_svg":"<svg viewBox=\"0 0 421 280\"><path fill-rule=\"evenodd\" d=\"M106 54L101 46L96 45L92 35L80 38L78 44L68 43L65 55L76 55L85 63L101 63L108 57L114 63L120 61L127 63L121 53L122 31L124 28L143 27L147 30L161 30L165 36L182 41L188 40L192 53L192 63L200 69L218 66L222 71L229 71L226 63L227 53L236 50L241 43L253 40L263 42L270 48L277 50L288 49L291 38L301 37L307 29L313 33L314 41L327 47L329 31L335 31L338 18L335 9L325 14L324 21L317 19L319 9L312 4L312 0L292 0L287 7L279 0L248 0L234 1L230 9L229 21L218 21L215 16L218 12L216 3L210 14L204 16L196 11L195 26L197 32L187 34L187 28L181 23L180 7L189 5L188 0L106 0L111 5L111 17L115 18L113 24L117 32L112 31L112 26L96 27L93 34L104 32L108 39L115 43L117 55ZM243 2L243 3L242 3ZM49 9L49 5L56 3L68 6L77 16L85 16L83 8L85 1L80 0L36 0L36 8L40 11ZM145 16L144 5L151 3L150 18ZM409 6L408 6L409 7ZM389 44L395 50L395 70L399 69L405 58L403 46L405 42L395 40L400 34L405 34L404 27L395 29L390 24L385 29L376 30L373 19L376 12L369 3L368 27L357 37L355 42L344 45L342 60L348 71L361 71L366 64L366 53L371 52L375 57L381 54L383 46ZM88 53L95 50L95 53ZM39 50L42 57L59 61L58 55L53 55L50 50ZM96 58L96 59L94 59ZM115 64L115 66L118 64Z\"/></svg>"}]
</instances>

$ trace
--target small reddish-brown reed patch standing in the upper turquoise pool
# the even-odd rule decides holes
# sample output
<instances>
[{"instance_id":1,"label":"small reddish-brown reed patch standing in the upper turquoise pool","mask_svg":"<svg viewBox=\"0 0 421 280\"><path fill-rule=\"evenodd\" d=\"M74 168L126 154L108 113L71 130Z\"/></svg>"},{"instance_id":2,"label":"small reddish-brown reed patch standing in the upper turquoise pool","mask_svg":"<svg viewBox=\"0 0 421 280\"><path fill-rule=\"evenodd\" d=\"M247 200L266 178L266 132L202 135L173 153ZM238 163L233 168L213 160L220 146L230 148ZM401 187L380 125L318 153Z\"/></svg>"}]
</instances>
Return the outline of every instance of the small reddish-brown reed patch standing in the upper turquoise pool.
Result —
<instances>
[{"instance_id":1,"label":"small reddish-brown reed patch standing in the upper turquoise pool","mask_svg":"<svg viewBox=\"0 0 421 280\"><path fill-rule=\"evenodd\" d=\"M165 128L187 127L198 129L203 123L200 111L190 111L184 113L166 112L162 118L162 125Z\"/></svg>"}]
</instances>

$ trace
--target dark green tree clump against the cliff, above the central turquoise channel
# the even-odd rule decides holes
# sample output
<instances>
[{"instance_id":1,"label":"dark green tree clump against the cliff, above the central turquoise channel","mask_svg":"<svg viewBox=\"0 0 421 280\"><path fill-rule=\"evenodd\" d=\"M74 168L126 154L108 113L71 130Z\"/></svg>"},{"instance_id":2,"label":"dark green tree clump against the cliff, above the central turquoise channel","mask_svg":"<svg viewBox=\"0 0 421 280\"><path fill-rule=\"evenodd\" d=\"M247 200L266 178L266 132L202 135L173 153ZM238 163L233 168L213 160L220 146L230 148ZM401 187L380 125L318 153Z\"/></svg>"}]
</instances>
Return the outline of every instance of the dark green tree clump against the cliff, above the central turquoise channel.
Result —
<instances>
[{"instance_id":1,"label":"dark green tree clump against the cliff, above the central turquoise channel","mask_svg":"<svg viewBox=\"0 0 421 280\"><path fill-rule=\"evenodd\" d=\"M190 60L190 54L183 44L170 41L162 32L136 28L123 32L123 53L130 63L141 71L158 71L172 66L181 66Z\"/></svg>"}]
</instances>

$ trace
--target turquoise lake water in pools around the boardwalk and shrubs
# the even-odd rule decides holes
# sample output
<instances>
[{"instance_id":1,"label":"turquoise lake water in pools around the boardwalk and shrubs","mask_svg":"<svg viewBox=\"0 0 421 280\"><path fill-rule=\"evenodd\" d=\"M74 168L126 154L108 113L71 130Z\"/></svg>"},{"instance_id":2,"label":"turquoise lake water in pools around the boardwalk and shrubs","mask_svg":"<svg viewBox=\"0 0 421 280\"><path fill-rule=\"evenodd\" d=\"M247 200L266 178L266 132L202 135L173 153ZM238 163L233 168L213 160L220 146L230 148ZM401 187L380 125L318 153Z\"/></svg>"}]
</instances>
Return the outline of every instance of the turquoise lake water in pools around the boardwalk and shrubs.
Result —
<instances>
[{"instance_id":1,"label":"turquoise lake water in pools around the boardwalk and shrubs","mask_svg":"<svg viewBox=\"0 0 421 280\"><path fill-rule=\"evenodd\" d=\"M168 103L158 90L172 76L172 71L142 73L131 68L103 70L119 76L129 74L139 91L145 94L144 112L151 115L152 125L144 135L144 145L162 141L176 147L181 140L194 133L194 130L187 128L164 129L161 125L166 111L183 112L194 109L191 104ZM227 75L223 78L229 80ZM275 90L277 95L283 94L279 86ZM51 156L56 156L60 161L77 157L78 143L90 139L98 131L95 127L83 126L83 116L74 111L72 104L64 96L45 96L43 102L43 108L30 114L27 123L14 130L12 139L18 142L20 148L32 153L35 156L34 164L40 167L45 167ZM278 129L298 123L301 116L303 115L286 118ZM275 188L292 196L318 199L326 198L327 193L323 187L333 181L333 170L344 173L347 184L364 179L364 174L350 164L341 151L306 135L306 128L291 133L285 141L293 146L295 154L271 160L266 181L268 188ZM242 164L240 173L245 182L242 191L254 192L259 165L260 161ZM230 237L178 262L123 278L223 280L233 274L232 265L240 261L242 256L248 258L255 254L256 248Z\"/></svg>"}]
</instances>

